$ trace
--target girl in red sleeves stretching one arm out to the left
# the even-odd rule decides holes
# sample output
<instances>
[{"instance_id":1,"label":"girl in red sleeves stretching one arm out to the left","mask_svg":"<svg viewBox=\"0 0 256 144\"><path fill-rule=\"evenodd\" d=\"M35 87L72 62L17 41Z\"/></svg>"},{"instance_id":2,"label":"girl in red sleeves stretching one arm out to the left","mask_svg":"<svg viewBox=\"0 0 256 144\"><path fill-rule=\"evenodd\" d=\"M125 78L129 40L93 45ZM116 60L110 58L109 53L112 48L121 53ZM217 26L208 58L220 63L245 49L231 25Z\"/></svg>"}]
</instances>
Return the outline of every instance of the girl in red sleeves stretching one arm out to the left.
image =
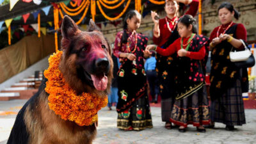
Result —
<instances>
[{"instance_id":1,"label":"girl in red sleeves stretching one arm out to the left","mask_svg":"<svg viewBox=\"0 0 256 144\"><path fill-rule=\"evenodd\" d=\"M203 125L209 124L209 105L205 88L205 65L209 42L205 36L196 35L196 20L184 15L177 24L180 38L166 49L148 45L146 51L154 50L163 56L177 53L178 60L172 71L175 81L175 102L170 122L179 125L185 132L188 124L196 126L197 131L205 132Z\"/></svg>"}]
</instances>

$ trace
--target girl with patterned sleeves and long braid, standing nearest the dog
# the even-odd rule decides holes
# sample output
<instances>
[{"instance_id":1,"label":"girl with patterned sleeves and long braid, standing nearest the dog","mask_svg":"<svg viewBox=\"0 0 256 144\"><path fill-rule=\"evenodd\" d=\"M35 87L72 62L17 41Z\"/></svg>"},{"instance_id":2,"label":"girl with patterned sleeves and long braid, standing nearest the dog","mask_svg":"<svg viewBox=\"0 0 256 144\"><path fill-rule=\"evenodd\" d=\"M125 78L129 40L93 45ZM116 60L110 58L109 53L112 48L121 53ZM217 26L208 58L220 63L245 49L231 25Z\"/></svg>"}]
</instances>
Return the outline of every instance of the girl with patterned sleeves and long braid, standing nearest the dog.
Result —
<instances>
[{"instance_id":1,"label":"girl with patterned sleeves and long braid, standing nearest the dog","mask_svg":"<svg viewBox=\"0 0 256 144\"><path fill-rule=\"evenodd\" d=\"M130 10L124 19L124 31L116 34L113 54L120 59L118 70L117 127L126 131L152 128L147 96L147 77L143 58L148 38L136 30L141 15Z\"/></svg>"}]
</instances>

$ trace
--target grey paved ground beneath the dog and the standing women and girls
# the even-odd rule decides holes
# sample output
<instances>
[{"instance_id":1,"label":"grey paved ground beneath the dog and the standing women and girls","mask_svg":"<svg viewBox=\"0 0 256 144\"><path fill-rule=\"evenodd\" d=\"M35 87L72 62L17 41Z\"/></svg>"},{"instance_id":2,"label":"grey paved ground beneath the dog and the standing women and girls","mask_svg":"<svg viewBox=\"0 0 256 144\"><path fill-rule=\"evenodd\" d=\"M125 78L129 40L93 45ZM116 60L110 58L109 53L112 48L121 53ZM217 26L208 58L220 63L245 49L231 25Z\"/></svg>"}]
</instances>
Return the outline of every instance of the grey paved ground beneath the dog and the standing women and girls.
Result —
<instances>
[{"instance_id":1,"label":"grey paved ground beneath the dog and the standing women and girls","mask_svg":"<svg viewBox=\"0 0 256 144\"><path fill-rule=\"evenodd\" d=\"M0 102L0 111L18 112L26 100L11 100ZM151 108L153 129L143 131L120 131L116 128L116 111L103 108L99 111L99 127L93 144L126 144L126 143L256 143L256 109L246 109L246 125L237 127L236 131L225 131L225 125L216 124L216 129L207 129L199 133L191 125L188 131L180 133L177 129L164 129L161 122L161 108ZM6 140L12 129L15 115L0 115L0 144Z\"/></svg>"}]
</instances>

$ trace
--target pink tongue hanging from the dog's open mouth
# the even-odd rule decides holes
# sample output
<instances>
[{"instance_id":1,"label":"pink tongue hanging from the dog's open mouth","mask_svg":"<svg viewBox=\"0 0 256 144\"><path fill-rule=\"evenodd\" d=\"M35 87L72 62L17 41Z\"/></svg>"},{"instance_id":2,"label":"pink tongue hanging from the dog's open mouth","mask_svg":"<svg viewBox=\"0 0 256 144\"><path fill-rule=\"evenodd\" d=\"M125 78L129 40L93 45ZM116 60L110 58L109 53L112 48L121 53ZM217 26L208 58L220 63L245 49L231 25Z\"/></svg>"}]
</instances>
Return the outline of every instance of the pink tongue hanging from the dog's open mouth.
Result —
<instances>
[{"instance_id":1,"label":"pink tongue hanging from the dog's open mouth","mask_svg":"<svg viewBox=\"0 0 256 144\"><path fill-rule=\"evenodd\" d=\"M92 81L93 81L93 85L97 90L106 90L107 88L107 84L108 84L108 77L104 75L104 77L99 78L95 75L92 75Z\"/></svg>"}]
</instances>

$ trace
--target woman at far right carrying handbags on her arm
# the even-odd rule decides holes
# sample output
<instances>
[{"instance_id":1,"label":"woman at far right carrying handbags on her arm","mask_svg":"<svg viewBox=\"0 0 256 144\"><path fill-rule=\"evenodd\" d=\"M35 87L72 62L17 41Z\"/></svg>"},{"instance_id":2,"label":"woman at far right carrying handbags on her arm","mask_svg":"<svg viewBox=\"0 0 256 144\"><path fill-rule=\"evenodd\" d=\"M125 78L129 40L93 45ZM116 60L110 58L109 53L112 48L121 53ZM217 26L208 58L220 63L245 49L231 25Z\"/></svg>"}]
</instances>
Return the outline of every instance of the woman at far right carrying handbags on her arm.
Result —
<instances>
[{"instance_id":1,"label":"woman at far right carrying handbags on her arm","mask_svg":"<svg viewBox=\"0 0 256 144\"><path fill-rule=\"evenodd\" d=\"M234 125L245 124L242 93L248 90L247 68L238 68L230 61L229 52L243 50L241 40L246 41L246 29L243 24L235 24L239 12L230 3L222 3L218 8L221 26L211 33L211 125L221 122L228 131ZM241 40L240 40L241 39Z\"/></svg>"}]
</instances>

